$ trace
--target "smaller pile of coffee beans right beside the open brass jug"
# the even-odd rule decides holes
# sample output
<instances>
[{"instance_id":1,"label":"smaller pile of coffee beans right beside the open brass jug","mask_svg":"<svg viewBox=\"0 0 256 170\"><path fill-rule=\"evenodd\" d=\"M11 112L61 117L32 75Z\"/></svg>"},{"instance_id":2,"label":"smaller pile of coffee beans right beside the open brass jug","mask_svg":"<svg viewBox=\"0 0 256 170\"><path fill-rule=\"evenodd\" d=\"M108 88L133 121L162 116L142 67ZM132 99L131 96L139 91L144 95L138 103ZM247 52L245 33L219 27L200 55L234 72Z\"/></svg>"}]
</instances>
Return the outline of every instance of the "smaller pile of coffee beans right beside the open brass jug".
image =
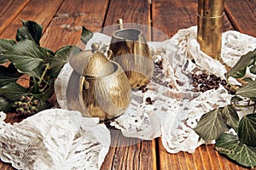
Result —
<instances>
[{"instance_id":1,"label":"smaller pile of coffee beans right beside the open brass jug","mask_svg":"<svg viewBox=\"0 0 256 170\"><path fill-rule=\"evenodd\" d=\"M163 68L164 68L163 60L164 59L158 59L157 61L154 62L154 73L153 73L152 81L162 86L165 86L167 88L172 88L172 85L170 84L170 82L162 81L162 78L165 77L165 73L163 71Z\"/></svg>"}]
</instances>

